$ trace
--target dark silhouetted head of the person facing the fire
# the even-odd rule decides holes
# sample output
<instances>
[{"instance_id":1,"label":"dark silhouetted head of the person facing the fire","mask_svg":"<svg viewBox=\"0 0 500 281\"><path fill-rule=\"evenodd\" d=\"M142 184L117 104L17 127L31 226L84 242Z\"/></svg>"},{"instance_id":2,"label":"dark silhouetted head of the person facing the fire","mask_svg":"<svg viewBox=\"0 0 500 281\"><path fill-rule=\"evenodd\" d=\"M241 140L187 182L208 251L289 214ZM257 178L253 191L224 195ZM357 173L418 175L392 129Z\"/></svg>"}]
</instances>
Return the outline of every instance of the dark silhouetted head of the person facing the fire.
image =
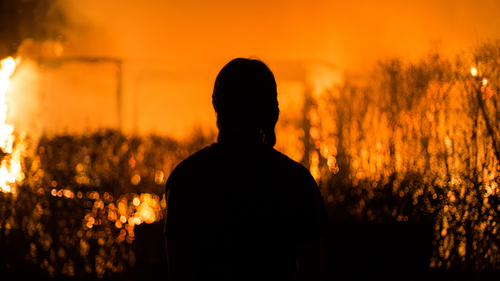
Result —
<instances>
[{"instance_id":1,"label":"dark silhouetted head of the person facing the fire","mask_svg":"<svg viewBox=\"0 0 500 281\"><path fill-rule=\"evenodd\" d=\"M256 59L237 58L215 79L212 104L217 113L218 141L232 136L258 136L276 144L278 121L276 81L269 68Z\"/></svg>"}]
</instances>

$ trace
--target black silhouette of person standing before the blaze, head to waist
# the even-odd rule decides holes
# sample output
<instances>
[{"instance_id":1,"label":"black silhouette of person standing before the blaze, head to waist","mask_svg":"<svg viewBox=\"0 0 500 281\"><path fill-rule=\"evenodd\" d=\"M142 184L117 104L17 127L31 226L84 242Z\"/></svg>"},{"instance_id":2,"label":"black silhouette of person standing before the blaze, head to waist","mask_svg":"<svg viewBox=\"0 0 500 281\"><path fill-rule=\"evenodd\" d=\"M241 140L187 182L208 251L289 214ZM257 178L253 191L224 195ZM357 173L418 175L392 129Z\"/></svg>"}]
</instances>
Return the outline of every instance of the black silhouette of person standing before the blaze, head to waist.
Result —
<instances>
[{"instance_id":1,"label":"black silhouette of person standing before the blaze, head to waist","mask_svg":"<svg viewBox=\"0 0 500 281\"><path fill-rule=\"evenodd\" d=\"M234 59L215 80L217 143L167 181L171 280L320 280L325 205L309 171L273 149L276 82Z\"/></svg>"}]
</instances>

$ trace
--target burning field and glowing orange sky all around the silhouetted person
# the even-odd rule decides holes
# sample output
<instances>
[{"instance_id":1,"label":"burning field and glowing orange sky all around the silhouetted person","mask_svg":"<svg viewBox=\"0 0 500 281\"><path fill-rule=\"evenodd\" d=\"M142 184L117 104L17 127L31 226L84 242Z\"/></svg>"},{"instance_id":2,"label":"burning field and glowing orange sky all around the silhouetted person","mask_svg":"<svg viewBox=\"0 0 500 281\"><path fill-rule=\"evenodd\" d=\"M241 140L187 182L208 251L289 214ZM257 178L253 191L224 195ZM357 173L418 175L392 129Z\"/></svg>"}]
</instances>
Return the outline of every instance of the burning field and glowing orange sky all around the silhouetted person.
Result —
<instances>
[{"instance_id":1,"label":"burning field and glowing orange sky all around the silhouetted person","mask_svg":"<svg viewBox=\"0 0 500 281\"><path fill-rule=\"evenodd\" d=\"M462 50L498 36L496 2L121 2L0 4L0 276L166 278L166 180L215 141L241 54L325 200L325 280L498 274L500 43Z\"/></svg>"}]
</instances>

